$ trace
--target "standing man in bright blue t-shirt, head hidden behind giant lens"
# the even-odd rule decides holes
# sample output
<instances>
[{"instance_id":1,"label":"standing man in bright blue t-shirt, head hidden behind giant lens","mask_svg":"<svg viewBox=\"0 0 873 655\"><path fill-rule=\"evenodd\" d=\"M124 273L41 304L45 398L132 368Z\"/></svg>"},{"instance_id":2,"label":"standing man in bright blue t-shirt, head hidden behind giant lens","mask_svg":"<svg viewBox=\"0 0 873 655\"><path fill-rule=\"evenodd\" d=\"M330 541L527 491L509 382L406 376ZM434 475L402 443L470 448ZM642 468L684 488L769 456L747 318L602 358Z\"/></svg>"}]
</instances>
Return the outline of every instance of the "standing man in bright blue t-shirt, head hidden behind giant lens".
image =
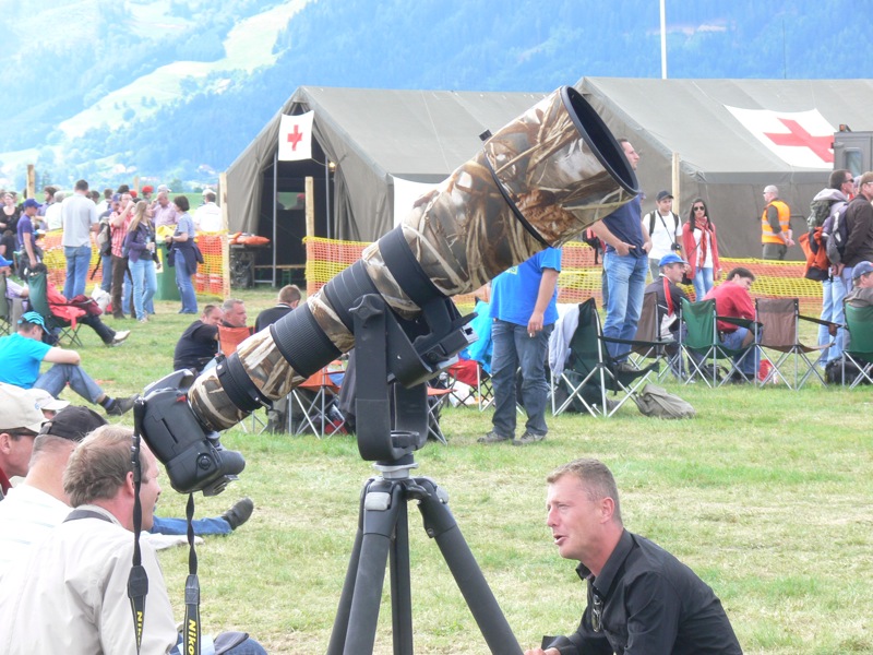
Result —
<instances>
[{"instance_id":1,"label":"standing man in bright blue t-shirt, head hidden behind giant lens","mask_svg":"<svg viewBox=\"0 0 873 655\"><path fill-rule=\"evenodd\" d=\"M561 251L547 248L491 282L491 381L493 428L479 443L525 445L546 439L546 353L558 320L557 286ZM515 372L522 369L525 432L515 439Z\"/></svg>"}]
</instances>

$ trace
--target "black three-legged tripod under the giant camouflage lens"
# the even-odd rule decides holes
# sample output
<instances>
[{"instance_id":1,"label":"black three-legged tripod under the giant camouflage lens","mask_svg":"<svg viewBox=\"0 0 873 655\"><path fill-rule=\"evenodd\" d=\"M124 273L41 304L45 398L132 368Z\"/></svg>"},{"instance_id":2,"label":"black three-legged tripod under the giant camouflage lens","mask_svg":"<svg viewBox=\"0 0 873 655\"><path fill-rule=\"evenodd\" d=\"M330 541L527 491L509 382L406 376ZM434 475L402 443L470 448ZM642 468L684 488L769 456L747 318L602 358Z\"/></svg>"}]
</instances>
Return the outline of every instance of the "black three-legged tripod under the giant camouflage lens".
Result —
<instances>
[{"instance_id":1,"label":"black three-legged tripod under the giant camouflage lens","mask_svg":"<svg viewBox=\"0 0 873 655\"><path fill-rule=\"evenodd\" d=\"M391 563L392 634L395 655L412 654L412 600L409 574L408 500L418 501L424 532L436 540L492 653L521 655L491 588L449 510L449 496L427 477L411 477L412 455L378 462L380 477L361 491L358 532L351 549L327 655L373 652L385 567Z\"/></svg>"}]
</instances>

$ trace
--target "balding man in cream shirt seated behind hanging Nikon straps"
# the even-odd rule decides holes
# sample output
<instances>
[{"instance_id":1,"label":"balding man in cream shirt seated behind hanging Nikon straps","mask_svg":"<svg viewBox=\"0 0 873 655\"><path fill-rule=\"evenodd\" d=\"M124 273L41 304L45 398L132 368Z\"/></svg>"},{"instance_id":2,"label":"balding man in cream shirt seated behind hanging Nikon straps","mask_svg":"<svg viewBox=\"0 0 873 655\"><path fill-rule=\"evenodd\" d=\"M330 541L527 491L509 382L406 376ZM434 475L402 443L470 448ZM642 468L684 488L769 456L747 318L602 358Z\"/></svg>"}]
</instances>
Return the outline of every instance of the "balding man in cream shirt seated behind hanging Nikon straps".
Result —
<instances>
[{"instance_id":1,"label":"balding man in cream shirt seated behind hanging Nikon straps","mask_svg":"<svg viewBox=\"0 0 873 655\"><path fill-rule=\"evenodd\" d=\"M63 493L75 509L51 538L32 546L27 557L3 575L0 652L175 655L182 651L160 565L147 540L140 543L147 592L141 647L136 644L128 597L137 495L132 446L133 430L103 426L73 450L63 473ZM145 443L139 462L142 526L148 529L160 496L160 469ZM217 652L232 655L265 653L239 632L218 635L215 645Z\"/></svg>"}]
</instances>

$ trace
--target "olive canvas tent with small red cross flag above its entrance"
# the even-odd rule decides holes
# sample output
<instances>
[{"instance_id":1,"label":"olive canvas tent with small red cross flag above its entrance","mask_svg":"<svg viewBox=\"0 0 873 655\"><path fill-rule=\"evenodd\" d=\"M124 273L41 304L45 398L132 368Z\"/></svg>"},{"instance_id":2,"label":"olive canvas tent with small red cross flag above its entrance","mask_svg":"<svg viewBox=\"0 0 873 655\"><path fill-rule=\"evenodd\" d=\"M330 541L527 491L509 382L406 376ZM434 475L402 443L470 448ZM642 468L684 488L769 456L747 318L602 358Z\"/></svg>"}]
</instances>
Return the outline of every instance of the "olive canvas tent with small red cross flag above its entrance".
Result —
<instances>
[{"instance_id":1,"label":"olive canvas tent with small red cross flag above its entrance","mask_svg":"<svg viewBox=\"0 0 873 655\"><path fill-rule=\"evenodd\" d=\"M336 230L371 241L393 225L393 177L440 182L543 94L301 86L227 171L232 230L255 231L263 170L283 114L314 110L313 134L334 171Z\"/></svg>"}]
</instances>

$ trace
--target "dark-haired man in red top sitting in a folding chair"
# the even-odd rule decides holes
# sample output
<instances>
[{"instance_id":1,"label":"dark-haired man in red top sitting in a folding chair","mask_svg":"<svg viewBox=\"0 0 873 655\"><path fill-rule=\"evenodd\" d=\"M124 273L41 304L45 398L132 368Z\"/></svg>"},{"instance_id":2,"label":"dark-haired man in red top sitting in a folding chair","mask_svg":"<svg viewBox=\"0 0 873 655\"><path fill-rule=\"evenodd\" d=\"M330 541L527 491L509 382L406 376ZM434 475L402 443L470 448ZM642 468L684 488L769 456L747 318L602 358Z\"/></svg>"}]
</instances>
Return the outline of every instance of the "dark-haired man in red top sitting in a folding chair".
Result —
<instances>
[{"instance_id":1,"label":"dark-haired man in red top sitting in a folding chair","mask_svg":"<svg viewBox=\"0 0 873 655\"><path fill-rule=\"evenodd\" d=\"M714 298L716 301L716 313L719 317L730 317L734 319L755 319L755 303L749 289L755 282L755 275L749 269L737 267L728 273L723 284L713 287L704 300ZM755 333L749 327L742 327L728 323L718 322L718 336L721 344L731 350L749 348L755 341ZM733 361L737 368L742 371L742 376L734 373L734 382L752 382L757 371L757 350L750 348L740 355L736 355Z\"/></svg>"}]
</instances>

